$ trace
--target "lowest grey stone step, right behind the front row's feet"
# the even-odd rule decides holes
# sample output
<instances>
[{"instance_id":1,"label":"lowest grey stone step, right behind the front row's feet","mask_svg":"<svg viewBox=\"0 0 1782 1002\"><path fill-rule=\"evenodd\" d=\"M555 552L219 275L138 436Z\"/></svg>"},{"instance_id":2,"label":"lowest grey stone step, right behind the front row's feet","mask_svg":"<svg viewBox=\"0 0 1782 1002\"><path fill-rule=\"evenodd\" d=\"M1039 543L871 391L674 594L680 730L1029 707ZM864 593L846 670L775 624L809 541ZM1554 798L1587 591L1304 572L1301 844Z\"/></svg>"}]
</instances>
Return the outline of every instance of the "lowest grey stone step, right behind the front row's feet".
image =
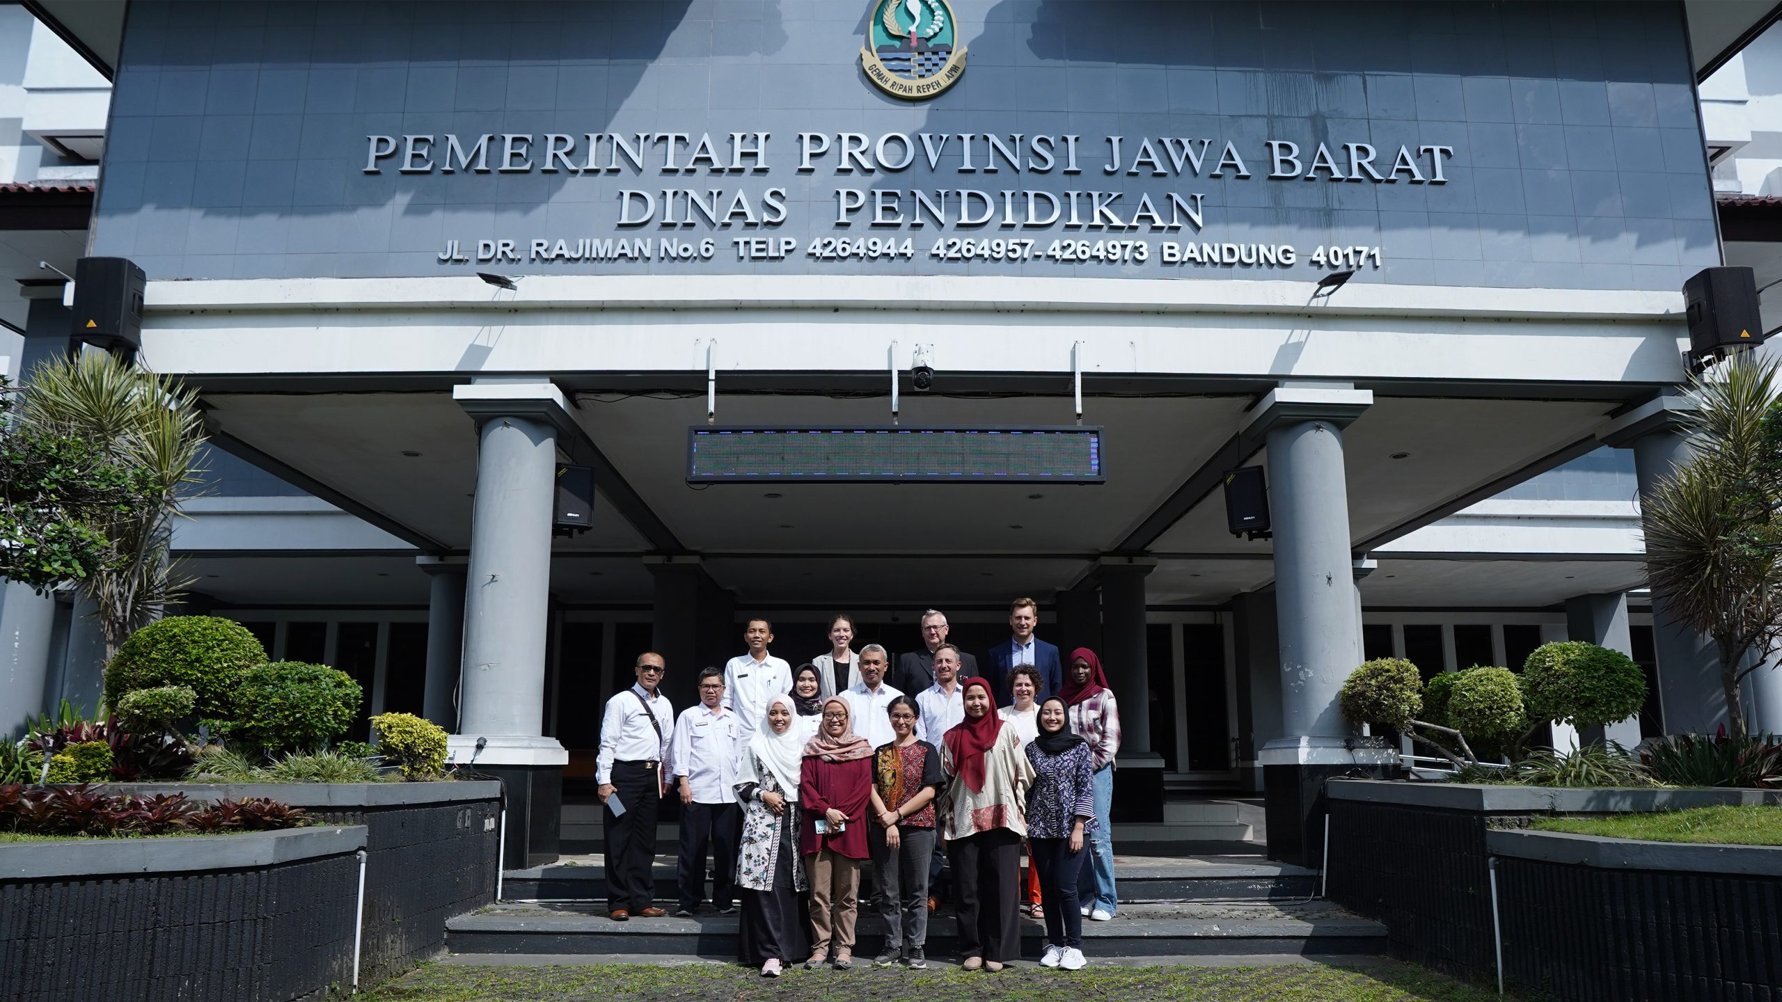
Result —
<instances>
[{"instance_id":1,"label":"lowest grey stone step, right behind the front row's feet","mask_svg":"<svg viewBox=\"0 0 1782 1002\"><path fill-rule=\"evenodd\" d=\"M633 918L613 922L601 906L497 904L446 924L454 954L627 954L638 957L736 956L738 916ZM884 945L877 915L862 915L855 957ZM955 922L941 909L928 924L927 954L946 959L957 949ZM1091 957L1383 954L1386 929L1329 902L1308 904L1132 904L1110 922L1083 922ZM1044 925L1021 920L1021 956L1044 952Z\"/></svg>"}]
</instances>

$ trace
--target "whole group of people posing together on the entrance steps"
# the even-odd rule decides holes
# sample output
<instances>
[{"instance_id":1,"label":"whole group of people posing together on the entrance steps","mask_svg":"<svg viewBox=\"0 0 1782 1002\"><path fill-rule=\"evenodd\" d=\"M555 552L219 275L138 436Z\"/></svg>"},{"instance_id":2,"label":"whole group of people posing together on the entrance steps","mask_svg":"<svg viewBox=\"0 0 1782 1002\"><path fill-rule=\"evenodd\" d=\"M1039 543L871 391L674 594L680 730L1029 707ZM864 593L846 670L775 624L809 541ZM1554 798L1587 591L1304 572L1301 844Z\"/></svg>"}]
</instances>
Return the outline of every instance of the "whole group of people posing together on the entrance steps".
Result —
<instances>
[{"instance_id":1,"label":"whole group of people posing together on the entrance steps","mask_svg":"<svg viewBox=\"0 0 1782 1002\"><path fill-rule=\"evenodd\" d=\"M666 915L650 863L674 790L675 915L699 909L709 852L711 902L729 915L740 893L740 959L766 977L798 961L854 966L862 897L886 924L875 966L925 968L928 916L950 897L966 970L1019 956L1023 906L1046 924L1041 965L1082 968L1082 920L1117 908L1119 710L1094 651L1066 663L1037 624L1037 604L1016 599L1010 638L980 674L936 610L895 672L879 644L852 649L846 615L829 622L830 651L797 669L768 653L773 624L752 619L748 653L704 669L699 704L679 717L659 692L661 654L642 654L601 724L611 918Z\"/></svg>"}]
</instances>

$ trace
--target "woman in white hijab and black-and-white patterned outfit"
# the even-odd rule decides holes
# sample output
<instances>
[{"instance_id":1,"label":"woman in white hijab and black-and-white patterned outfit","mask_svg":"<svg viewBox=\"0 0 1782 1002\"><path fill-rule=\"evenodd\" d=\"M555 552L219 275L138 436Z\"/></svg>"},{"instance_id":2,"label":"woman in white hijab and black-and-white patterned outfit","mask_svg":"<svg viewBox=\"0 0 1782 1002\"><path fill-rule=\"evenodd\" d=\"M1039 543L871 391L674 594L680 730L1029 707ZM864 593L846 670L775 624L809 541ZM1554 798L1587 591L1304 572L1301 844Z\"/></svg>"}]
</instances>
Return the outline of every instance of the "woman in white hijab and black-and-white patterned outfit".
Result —
<instances>
[{"instance_id":1,"label":"woman in white hijab and black-and-white patterned outfit","mask_svg":"<svg viewBox=\"0 0 1782 1002\"><path fill-rule=\"evenodd\" d=\"M779 977L805 956L804 858L798 854L798 784L804 742L789 695L768 702L766 726L756 731L736 774L743 802L743 842L736 886L743 895L738 959Z\"/></svg>"}]
</instances>

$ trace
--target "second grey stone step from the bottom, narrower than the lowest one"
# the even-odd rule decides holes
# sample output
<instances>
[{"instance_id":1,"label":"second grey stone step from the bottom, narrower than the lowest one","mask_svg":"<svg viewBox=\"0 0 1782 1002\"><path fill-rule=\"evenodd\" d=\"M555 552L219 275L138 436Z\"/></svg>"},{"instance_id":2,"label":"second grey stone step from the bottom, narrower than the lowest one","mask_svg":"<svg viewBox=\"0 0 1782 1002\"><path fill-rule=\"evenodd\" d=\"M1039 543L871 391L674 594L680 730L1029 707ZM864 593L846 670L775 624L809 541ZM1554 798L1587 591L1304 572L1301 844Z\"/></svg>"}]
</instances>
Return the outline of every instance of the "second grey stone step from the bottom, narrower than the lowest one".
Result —
<instances>
[{"instance_id":1,"label":"second grey stone step from the bottom, narrower than the lowest one","mask_svg":"<svg viewBox=\"0 0 1782 1002\"><path fill-rule=\"evenodd\" d=\"M1292 900L1310 899L1319 890L1315 870L1258 858L1116 856L1114 868L1123 902ZM656 899L672 909L677 900L675 858L658 856L652 872ZM709 884L706 893L711 893ZM606 866L597 856L583 856L547 866L508 870L503 879L503 897L601 902L606 899Z\"/></svg>"}]
</instances>

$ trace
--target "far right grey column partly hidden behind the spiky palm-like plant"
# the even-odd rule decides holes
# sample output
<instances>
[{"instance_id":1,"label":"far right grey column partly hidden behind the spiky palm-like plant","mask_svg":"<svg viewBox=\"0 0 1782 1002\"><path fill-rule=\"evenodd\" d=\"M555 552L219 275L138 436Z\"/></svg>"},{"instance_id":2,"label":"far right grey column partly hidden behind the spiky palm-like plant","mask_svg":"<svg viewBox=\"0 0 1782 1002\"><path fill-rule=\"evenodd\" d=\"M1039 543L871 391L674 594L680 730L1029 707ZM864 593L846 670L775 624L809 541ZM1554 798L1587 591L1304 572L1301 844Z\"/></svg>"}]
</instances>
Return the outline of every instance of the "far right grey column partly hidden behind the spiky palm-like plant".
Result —
<instances>
[{"instance_id":1,"label":"far right grey column partly hidden behind the spiky palm-like plant","mask_svg":"<svg viewBox=\"0 0 1782 1002\"><path fill-rule=\"evenodd\" d=\"M1688 462L1684 437L1673 424L1632 440L1639 496L1657 490L1672 469ZM1720 651L1705 633L1696 633L1672 613L1670 597L1652 592L1652 644L1659 661L1659 704L1666 735L1713 735L1727 722L1727 697L1720 688Z\"/></svg>"}]
</instances>

